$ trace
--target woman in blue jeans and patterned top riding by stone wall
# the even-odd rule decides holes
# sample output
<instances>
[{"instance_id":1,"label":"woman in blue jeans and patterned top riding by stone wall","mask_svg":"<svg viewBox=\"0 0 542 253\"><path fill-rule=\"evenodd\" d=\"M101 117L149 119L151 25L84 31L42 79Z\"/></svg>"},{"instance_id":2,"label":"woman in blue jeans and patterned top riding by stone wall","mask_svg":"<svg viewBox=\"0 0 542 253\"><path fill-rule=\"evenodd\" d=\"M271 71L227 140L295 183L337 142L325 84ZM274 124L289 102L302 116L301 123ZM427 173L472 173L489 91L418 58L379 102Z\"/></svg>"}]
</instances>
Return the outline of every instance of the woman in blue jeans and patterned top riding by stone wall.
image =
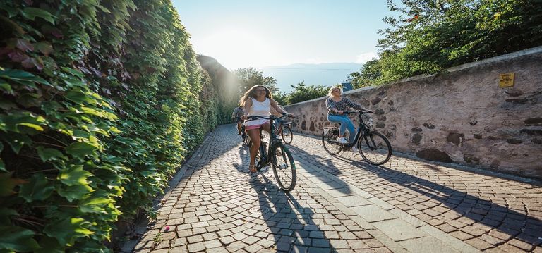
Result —
<instances>
[{"instance_id":1,"label":"woman in blue jeans and patterned top riding by stone wall","mask_svg":"<svg viewBox=\"0 0 542 253\"><path fill-rule=\"evenodd\" d=\"M337 142L344 144L354 142L354 139L356 138L356 129L354 128L354 124L352 124L350 118L344 114L344 111L347 111L348 108L363 110L363 106L354 103L346 97L341 97L341 93L341 87L331 87L330 91L327 92L329 97L325 100L325 106L327 107L327 121L341 124L341 127L339 128L339 139L337 139ZM345 130L348 130L349 132L349 141L342 137ZM358 152L356 147L352 147L350 150L352 152Z\"/></svg>"}]
</instances>

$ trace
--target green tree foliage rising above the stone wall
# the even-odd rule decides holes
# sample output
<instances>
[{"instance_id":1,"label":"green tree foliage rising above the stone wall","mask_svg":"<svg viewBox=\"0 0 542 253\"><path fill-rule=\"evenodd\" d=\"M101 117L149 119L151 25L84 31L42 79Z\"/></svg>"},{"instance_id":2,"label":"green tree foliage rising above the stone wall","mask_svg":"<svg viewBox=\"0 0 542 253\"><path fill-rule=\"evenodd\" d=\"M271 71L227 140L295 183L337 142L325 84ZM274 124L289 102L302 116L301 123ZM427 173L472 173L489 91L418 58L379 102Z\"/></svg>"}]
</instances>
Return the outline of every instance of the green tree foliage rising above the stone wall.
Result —
<instances>
[{"instance_id":1,"label":"green tree foliage rising above the stone wall","mask_svg":"<svg viewBox=\"0 0 542 253\"><path fill-rule=\"evenodd\" d=\"M403 0L400 6L388 0L388 6L400 16L385 18L391 27L380 31L380 60L371 63L380 68L375 84L542 44L538 0ZM373 73L363 68L353 76L363 85Z\"/></svg>"}]
</instances>

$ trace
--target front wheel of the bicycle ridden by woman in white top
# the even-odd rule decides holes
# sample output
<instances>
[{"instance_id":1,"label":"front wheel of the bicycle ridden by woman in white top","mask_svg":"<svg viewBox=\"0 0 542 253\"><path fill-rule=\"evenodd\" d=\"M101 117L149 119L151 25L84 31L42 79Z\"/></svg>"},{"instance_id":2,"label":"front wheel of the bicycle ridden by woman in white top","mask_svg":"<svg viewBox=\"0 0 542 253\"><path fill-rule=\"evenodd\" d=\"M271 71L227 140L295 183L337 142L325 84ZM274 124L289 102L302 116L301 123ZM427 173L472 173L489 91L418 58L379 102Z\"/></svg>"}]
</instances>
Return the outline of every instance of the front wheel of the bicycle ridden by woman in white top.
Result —
<instances>
[{"instance_id":1,"label":"front wheel of the bicycle ridden by woman in white top","mask_svg":"<svg viewBox=\"0 0 542 253\"><path fill-rule=\"evenodd\" d=\"M277 144L273 147L271 164L279 187L287 192L294 190L297 178L296 164L284 144Z\"/></svg>"}]
</instances>

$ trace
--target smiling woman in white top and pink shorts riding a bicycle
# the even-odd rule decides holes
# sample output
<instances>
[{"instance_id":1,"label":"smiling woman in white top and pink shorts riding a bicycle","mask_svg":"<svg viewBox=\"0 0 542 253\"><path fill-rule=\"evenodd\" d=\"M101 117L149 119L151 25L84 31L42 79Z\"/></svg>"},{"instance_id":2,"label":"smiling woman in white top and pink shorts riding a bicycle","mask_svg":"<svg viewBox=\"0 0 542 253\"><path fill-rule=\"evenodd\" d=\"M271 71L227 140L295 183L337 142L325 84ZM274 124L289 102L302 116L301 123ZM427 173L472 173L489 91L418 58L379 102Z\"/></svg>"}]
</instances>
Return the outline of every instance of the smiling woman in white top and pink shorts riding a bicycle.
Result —
<instances>
[{"instance_id":1,"label":"smiling woman in white top and pink shorts riding a bicycle","mask_svg":"<svg viewBox=\"0 0 542 253\"><path fill-rule=\"evenodd\" d=\"M271 92L267 87L263 85L254 85L251 87L240 101L241 105L245 106L243 110L242 119L246 119L248 116L263 116L269 117L271 106L279 112L289 114L287 111L284 111L279 107L277 101L272 99ZM251 164L248 166L248 170L252 173L256 172L255 158L258 153L258 148L260 147L260 128L267 132L271 132L269 120L258 118L253 121L245 121L244 123L246 133L251 137Z\"/></svg>"}]
</instances>

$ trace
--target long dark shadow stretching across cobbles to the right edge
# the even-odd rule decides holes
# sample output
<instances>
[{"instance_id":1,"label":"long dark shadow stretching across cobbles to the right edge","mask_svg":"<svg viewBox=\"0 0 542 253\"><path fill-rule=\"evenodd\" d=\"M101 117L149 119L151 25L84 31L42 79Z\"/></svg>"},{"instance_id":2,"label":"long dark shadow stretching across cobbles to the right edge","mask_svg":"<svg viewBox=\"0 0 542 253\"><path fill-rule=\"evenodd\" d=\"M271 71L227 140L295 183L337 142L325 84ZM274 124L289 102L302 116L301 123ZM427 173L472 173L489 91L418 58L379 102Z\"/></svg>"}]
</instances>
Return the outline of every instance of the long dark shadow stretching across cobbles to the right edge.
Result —
<instances>
[{"instance_id":1,"label":"long dark shadow stretching across cobbles to the right edge","mask_svg":"<svg viewBox=\"0 0 542 253\"><path fill-rule=\"evenodd\" d=\"M301 149L296 149L296 152L302 151ZM308 153L305 154L309 155ZM442 213L444 214L443 216L446 218L457 221L459 218L466 217L472 220L471 224L462 223L461 221L458 221L460 223L453 223L452 226L454 226L455 228L463 228L469 225L474 226L475 224L481 224L483 226L495 229L497 230L497 232L500 232L493 233L493 236L498 237L499 240L508 241L515 238L517 240L527 242L534 247L542 244L542 221L539 218L535 218L526 214L526 212L529 210L526 210L525 213L515 211L509 208L510 204L508 203L506 204L506 206L502 206L500 204L495 204L489 200L469 195L466 192L462 192L461 190L455 190L445 185L440 185L438 183L425 180L423 178L418 178L408 173L395 171L391 168L387 168L386 166L373 166L363 161L361 157L359 157L359 160L352 160L341 156L335 156L335 158L342 161L347 161L351 163L352 166L362 168L368 173L372 173L373 175L376 175L379 178L383 178L390 183L402 185L409 190L418 192L418 194L424 195L430 199L434 199L441 205L446 206L448 209L450 209L450 211L445 211ZM327 164L329 163L322 163L322 165ZM433 171L441 171L440 168L437 168L430 164L424 164L423 166L427 166L430 170ZM332 172L337 170L337 168L326 168L326 171L328 171L328 169L330 169L330 171ZM464 180L469 181L469 178L464 178ZM374 195L374 192L369 193ZM420 200L420 202L423 201ZM438 204L436 204L435 206L438 206ZM420 207L420 205L418 205L417 207ZM526 206L522 206L522 208L526 209ZM430 209L430 207L425 206L425 209ZM425 209L418 210L423 211ZM539 212L541 210L535 209L534 211ZM454 212L455 214L450 212ZM478 231L478 233L480 232ZM492 234L490 233L490 235ZM500 245L500 243L497 243L497 245Z\"/></svg>"}]
</instances>

